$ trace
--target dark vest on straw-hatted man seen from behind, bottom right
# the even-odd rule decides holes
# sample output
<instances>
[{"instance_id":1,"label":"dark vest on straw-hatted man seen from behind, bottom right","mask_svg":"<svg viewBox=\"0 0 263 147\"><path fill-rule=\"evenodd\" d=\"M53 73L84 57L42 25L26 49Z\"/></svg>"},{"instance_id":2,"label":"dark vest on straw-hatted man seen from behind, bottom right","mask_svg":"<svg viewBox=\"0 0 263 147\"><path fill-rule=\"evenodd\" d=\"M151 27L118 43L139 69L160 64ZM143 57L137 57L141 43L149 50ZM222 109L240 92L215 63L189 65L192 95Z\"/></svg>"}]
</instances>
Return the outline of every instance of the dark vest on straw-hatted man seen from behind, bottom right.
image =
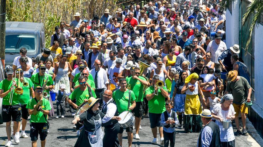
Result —
<instances>
[{"instance_id":1,"label":"dark vest on straw-hatted man seen from behind, bottom right","mask_svg":"<svg viewBox=\"0 0 263 147\"><path fill-rule=\"evenodd\" d=\"M220 129L218 127L217 124L215 124L215 122L210 121L205 127L210 127L212 129L212 140L210 143L210 147L221 147L221 141L220 141ZM198 139L198 147L201 147L201 134L204 130L204 128L201 130L200 135L199 135L199 139Z\"/></svg>"}]
</instances>

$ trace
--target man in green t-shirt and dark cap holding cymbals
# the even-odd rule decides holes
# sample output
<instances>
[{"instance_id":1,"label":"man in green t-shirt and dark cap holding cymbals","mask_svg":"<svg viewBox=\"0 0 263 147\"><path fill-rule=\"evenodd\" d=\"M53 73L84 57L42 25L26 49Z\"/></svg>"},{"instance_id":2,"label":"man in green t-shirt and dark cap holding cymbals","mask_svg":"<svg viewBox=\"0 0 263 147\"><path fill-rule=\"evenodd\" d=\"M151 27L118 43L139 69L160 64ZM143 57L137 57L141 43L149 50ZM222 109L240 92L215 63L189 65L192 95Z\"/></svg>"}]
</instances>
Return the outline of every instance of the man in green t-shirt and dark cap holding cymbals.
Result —
<instances>
[{"instance_id":1,"label":"man in green t-shirt and dark cap holding cymbals","mask_svg":"<svg viewBox=\"0 0 263 147\"><path fill-rule=\"evenodd\" d=\"M41 140L41 146L44 147L46 143L46 137L48 136L47 128L47 116L51 106L49 101L42 97L43 88L40 86L35 87L35 98L32 98L27 103L27 109L30 117L30 137L32 141L32 147L36 147L38 135ZM33 113L36 104L42 100L42 105L38 108L36 114ZM37 106L38 107L38 106Z\"/></svg>"}]
</instances>

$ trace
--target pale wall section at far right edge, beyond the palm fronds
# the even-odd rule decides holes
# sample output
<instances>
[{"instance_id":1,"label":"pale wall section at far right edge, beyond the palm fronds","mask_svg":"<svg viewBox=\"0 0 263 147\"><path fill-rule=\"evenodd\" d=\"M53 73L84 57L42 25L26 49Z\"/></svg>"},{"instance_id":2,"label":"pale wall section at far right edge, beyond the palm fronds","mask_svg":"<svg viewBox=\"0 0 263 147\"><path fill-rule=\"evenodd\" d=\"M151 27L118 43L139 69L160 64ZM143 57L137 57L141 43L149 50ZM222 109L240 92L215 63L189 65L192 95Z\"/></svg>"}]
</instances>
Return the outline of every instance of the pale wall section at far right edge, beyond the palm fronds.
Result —
<instances>
[{"instance_id":1,"label":"pale wall section at far right edge, beyond the palm fronds","mask_svg":"<svg viewBox=\"0 0 263 147\"><path fill-rule=\"evenodd\" d=\"M262 63L263 63L263 47L262 47L262 29L263 26L259 24L258 27L255 27L255 40L254 40L254 45L255 45L255 99L256 103L263 108L263 98L262 98L262 79L263 79L263 68L262 68Z\"/></svg>"}]
</instances>

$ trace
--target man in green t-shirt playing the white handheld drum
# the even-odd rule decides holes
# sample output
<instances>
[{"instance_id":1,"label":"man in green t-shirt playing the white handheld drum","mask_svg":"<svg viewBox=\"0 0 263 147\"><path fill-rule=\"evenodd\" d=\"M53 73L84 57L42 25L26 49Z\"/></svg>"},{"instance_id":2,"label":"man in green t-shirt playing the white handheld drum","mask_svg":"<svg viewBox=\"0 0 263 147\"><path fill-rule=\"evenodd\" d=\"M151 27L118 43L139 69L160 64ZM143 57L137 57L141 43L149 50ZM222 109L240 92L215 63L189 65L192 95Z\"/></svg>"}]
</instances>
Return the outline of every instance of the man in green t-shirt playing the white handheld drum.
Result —
<instances>
[{"instance_id":1,"label":"man in green t-shirt playing the white handheld drum","mask_svg":"<svg viewBox=\"0 0 263 147\"><path fill-rule=\"evenodd\" d=\"M114 99L117 105L118 113L120 114L123 111L133 110L136 107L136 102L135 102L136 97L133 91L130 91L131 94L129 95L129 89L126 88L127 81L125 78L121 78L119 80L119 83L120 83L120 89L113 92L112 99ZM129 97L130 97L130 104L129 104ZM132 138L133 138L132 130L133 130L133 124L129 127L126 127L129 147L132 146ZM118 140L120 146L122 146L122 133L123 133L123 127L120 127L120 132L118 133Z\"/></svg>"}]
</instances>

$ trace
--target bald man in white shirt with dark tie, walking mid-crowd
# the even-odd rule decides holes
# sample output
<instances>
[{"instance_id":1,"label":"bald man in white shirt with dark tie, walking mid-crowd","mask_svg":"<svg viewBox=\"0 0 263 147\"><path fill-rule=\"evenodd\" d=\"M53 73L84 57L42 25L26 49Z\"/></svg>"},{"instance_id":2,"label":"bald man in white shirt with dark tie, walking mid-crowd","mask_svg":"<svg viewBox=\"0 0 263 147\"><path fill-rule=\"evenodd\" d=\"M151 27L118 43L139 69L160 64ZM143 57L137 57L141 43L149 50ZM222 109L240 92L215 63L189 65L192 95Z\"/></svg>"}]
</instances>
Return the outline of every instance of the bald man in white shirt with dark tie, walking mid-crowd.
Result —
<instances>
[{"instance_id":1,"label":"bald man in white shirt with dark tie, walking mid-crowd","mask_svg":"<svg viewBox=\"0 0 263 147\"><path fill-rule=\"evenodd\" d=\"M94 69L91 69L90 73L94 79L95 83L95 93L97 95L97 98L101 99L100 100L100 107L102 106L102 94L103 92L108 89L109 81L108 81L108 76L107 72L103 69L100 68L101 63L100 60L95 60L94 61Z\"/></svg>"}]
</instances>

